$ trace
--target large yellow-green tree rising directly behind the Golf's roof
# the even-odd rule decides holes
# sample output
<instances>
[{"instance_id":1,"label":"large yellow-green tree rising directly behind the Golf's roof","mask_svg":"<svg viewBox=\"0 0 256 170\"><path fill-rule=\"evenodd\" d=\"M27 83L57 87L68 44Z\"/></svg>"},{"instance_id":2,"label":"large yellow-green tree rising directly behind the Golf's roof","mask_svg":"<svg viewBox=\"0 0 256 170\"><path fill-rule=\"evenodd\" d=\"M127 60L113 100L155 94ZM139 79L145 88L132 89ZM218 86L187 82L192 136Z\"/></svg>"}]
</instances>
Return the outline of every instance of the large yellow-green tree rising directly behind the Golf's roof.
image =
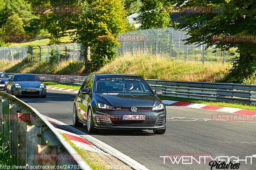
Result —
<instances>
[{"instance_id":1,"label":"large yellow-green tree rising directly behind the Golf's roof","mask_svg":"<svg viewBox=\"0 0 256 170\"><path fill-rule=\"evenodd\" d=\"M84 13L73 23L76 27L74 40L91 47L93 69L98 69L116 56L115 47L120 46L116 35L127 31L128 25L121 0L94 0L84 4ZM99 35L112 38L103 42L97 39Z\"/></svg>"}]
</instances>

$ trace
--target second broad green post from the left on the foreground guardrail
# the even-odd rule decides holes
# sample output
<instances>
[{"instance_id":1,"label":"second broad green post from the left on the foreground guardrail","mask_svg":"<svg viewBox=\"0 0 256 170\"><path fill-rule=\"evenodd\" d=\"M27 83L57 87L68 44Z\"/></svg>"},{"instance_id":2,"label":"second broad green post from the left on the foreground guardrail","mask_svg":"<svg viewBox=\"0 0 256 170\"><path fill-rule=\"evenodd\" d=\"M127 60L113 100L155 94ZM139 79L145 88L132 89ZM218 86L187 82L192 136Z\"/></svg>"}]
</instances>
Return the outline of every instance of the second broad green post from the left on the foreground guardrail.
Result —
<instances>
[{"instance_id":1,"label":"second broad green post from the left on the foreground guardrail","mask_svg":"<svg viewBox=\"0 0 256 170\"><path fill-rule=\"evenodd\" d=\"M12 158L18 161L18 112L19 105L10 104L10 151Z\"/></svg>"}]
</instances>

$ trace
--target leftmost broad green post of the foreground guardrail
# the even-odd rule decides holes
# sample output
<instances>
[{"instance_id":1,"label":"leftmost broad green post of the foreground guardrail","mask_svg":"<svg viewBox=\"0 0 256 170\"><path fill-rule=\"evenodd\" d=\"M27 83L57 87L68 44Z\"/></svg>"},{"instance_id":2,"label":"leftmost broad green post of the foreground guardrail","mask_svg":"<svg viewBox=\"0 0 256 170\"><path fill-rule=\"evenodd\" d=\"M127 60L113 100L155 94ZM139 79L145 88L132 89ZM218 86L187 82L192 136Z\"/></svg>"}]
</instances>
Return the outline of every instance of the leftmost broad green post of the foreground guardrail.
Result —
<instances>
[{"instance_id":1,"label":"leftmost broad green post of the foreground guardrail","mask_svg":"<svg viewBox=\"0 0 256 170\"><path fill-rule=\"evenodd\" d=\"M3 141L10 141L10 100L2 100L2 117L3 117Z\"/></svg>"}]
</instances>

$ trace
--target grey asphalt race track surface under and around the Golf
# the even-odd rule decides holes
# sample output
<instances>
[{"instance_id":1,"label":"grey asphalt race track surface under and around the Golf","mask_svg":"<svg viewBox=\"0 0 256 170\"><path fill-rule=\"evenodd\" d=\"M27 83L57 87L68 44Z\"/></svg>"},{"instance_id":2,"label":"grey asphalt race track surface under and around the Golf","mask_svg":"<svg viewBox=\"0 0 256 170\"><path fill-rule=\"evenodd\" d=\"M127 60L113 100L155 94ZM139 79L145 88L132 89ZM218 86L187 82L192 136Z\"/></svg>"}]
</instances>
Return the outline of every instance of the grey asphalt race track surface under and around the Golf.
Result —
<instances>
[{"instance_id":1,"label":"grey asphalt race track surface under and around the Golf","mask_svg":"<svg viewBox=\"0 0 256 170\"><path fill-rule=\"evenodd\" d=\"M75 96L76 93L47 90L46 98L20 99L35 107L41 114L73 126ZM101 130L99 134L90 135L146 165L150 170L211 168L208 160L205 164L203 160L200 164L196 161L192 164L182 164L181 161L173 164L166 160L164 164L163 158L160 158L163 155L187 154L196 158L198 154L210 154L214 159L220 156L239 156L239 159L245 159L245 156L256 155L256 121L212 121L212 114L223 112L180 106L166 106L166 109L167 130L164 135L154 135L152 130ZM87 133L86 125L78 129ZM247 160L247 164L240 161L239 169L256 169L256 158L252 158L252 164L249 158Z\"/></svg>"}]
</instances>

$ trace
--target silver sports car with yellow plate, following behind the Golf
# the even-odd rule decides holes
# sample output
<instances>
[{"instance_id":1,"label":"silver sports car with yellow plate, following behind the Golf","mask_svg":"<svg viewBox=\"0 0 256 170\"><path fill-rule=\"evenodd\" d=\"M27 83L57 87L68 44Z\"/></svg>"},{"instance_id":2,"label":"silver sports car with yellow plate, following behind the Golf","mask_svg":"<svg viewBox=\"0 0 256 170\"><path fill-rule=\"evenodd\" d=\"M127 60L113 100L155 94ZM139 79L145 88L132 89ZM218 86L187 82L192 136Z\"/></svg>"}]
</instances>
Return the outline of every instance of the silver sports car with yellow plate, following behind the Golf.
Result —
<instances>
[{"instance_id":1,"label":"silver sports car with yellow plate, following behind the Golf","mask_svg":"<svg viewBox=\"0 0 256 170\"><path fill-rule=\"evenodd\" d=\"M14 96L46 97L46 85L36 74L14 74L7 84L7 93Z\"/></svg>"}]
</instances>

